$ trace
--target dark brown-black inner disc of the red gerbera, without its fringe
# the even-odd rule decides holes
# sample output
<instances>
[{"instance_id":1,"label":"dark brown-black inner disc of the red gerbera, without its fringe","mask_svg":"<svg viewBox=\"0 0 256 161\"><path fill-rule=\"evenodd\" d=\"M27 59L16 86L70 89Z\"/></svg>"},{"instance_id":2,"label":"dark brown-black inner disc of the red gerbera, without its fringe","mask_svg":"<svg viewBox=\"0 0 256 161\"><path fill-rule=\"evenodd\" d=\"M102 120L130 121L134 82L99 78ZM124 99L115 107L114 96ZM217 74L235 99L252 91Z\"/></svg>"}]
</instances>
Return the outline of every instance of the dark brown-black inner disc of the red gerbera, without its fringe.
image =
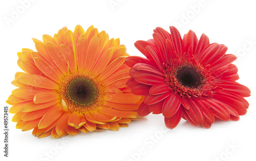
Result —
<instances>
[{"instance_id":1,"label":"dark brown-black inner disc of the red gerbera, without its fringe","mask_svg":"<svg viewBox=\"0 0 256 161\"><path fill-rule=\"evenodd\" d=\"M197 88L201 85L201 75L196 69L191 67L182 67L179 69L176 78L183 86L189 88Z\"/></svg>"}]
</instances>

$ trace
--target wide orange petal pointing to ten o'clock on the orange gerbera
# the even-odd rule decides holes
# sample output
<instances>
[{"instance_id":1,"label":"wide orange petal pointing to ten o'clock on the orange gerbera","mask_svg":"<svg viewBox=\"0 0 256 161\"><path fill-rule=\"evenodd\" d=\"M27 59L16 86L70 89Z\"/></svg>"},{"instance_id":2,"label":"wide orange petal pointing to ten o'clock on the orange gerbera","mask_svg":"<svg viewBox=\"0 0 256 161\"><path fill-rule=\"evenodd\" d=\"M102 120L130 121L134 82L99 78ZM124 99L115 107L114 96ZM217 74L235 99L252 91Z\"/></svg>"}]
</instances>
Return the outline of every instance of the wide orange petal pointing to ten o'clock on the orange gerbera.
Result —
<instances>
[{"instance_id":1,"label":"wide orange petal pointing to ten o'clock on the orange gerbera","mask_svg":"<svg viewBox=\"0 0 256 161\"><path fill-rule=\"evenodd\" d=\"M54 82L60 83L61 74L50 62L45 62L41 58L34 58L34 61L35 65L42 73L47 75Z\"/></svg>"}]
</instances>

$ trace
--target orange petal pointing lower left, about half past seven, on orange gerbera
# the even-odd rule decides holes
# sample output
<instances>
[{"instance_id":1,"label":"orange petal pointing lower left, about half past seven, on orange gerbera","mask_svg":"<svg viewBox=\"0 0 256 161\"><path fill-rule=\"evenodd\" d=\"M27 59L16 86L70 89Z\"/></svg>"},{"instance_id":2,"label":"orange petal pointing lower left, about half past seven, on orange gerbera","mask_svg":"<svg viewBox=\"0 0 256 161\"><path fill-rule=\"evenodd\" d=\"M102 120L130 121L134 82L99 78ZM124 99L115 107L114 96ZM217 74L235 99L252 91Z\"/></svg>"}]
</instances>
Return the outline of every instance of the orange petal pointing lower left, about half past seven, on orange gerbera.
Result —
<instances>
[{"instance_id":1,"label":"orange petal pointing lower left, about half past seven, on orange gerbera","mask_svg":"<svg viewBox=\"0 0 256 161\"><path fill-rule=\"evenodd\" d=\"M52 108L40 120L38 124L38 129L50 126L61 116L61 114L63 114L63 110L59 106Z\"/></svg>"}]
</instances>

